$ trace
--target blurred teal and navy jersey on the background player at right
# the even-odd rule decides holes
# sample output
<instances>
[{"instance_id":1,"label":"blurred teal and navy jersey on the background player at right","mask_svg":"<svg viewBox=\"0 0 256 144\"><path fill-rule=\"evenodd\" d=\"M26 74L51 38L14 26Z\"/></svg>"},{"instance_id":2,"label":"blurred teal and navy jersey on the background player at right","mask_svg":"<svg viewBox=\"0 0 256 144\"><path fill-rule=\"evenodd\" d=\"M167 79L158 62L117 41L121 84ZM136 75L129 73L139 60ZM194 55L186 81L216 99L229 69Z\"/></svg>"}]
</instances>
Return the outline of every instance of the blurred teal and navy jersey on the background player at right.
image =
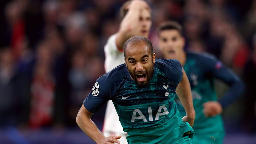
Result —
<instances>
[{"instance_id":1,"label":"blurred teal and navy jersey on the background player at right","mask_svg":"<svg viewBox=\"0 0 256 144\"><path fill-rule=\"evenodd\" d=\"M196 112L193 125L195 140L192 140L192 142L203 144L205 143L204 140L206 140L207 143L222 143L225 135L222 118L220 115L205 117L203 103L217 101L214 79L221 79L226 83L232 83L236 78L220 61L209 54L186 52L186 55L187 60L184 70L191 85L193 105ZM186 115L186 112L178 97L175 97L180 116L183 117Z\"/></svg>"}]
</instances>

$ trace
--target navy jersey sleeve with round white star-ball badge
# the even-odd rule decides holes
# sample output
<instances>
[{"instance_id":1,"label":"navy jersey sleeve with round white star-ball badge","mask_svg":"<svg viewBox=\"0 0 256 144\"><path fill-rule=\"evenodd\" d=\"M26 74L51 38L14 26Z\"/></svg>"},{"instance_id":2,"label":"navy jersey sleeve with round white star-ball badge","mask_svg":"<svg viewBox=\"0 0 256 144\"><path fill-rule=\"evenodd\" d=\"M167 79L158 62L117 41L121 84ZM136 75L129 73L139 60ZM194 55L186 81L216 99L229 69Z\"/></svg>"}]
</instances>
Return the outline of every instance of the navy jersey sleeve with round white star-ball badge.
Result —
<instances>
[{"instance_id":1,"label":"navy jersey sleeve with round white star-ball badge","mask_svg":"<svg viewBox=\"0 0 256 144\"><path fill-rule=\"evenodd\" d=\"M89 112L97 112L114 95L114 90L111 91L110 78L107 76L108 73L98 78L92 87L92 91L85 98L83 104Z\"/></svg>"}]
</instances>

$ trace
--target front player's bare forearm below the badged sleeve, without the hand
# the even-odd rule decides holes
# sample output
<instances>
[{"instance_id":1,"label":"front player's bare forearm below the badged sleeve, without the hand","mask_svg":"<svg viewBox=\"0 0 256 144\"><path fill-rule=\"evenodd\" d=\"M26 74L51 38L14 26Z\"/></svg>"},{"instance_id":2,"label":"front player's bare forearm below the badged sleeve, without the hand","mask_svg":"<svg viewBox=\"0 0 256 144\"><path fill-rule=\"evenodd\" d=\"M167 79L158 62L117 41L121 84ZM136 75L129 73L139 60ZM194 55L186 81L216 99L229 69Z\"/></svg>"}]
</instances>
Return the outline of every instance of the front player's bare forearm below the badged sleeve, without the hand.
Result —
<instances>
[{"instance_id":1,"label":"front player's bare forearm below the badged sleeve, without the hand","mask_svg":"<svg viewBox=\"0 0 256 144\"><path fill-rule=\"evenodd\" d=\"M97 128L95 123L91 120L90 116L84 113L81 109L79 110L76 117L77 125L86 135L88 135L97 144L103 143L106 137Z\"/></svg>"}]
</instances>

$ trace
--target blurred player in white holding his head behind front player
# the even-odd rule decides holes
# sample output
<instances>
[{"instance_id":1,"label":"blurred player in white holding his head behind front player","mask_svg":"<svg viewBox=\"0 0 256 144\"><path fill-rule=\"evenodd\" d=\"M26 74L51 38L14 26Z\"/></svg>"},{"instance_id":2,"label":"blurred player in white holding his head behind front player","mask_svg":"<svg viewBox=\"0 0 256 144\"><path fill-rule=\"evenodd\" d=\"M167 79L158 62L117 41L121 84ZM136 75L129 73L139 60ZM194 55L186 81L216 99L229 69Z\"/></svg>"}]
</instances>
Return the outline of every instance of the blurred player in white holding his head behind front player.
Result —
<instances>
[{"instance_id":1,"label":"blurred player in white holding his head behind front player","mask_svg":"<svg viewBox=\"0 0 256 144\"><path fill-rule=\"evenodd\" d=\"M123 45L132 36L148 37L151 27L151 9L143 0L127 1L120 8L122 22L118 32L109 37L104 47L105 72L124 63ZM114 105L107 103L103 133L106 136L122 135L121 143L125 144L127 133L123 131Z\"/></svg>"}]
</instances>

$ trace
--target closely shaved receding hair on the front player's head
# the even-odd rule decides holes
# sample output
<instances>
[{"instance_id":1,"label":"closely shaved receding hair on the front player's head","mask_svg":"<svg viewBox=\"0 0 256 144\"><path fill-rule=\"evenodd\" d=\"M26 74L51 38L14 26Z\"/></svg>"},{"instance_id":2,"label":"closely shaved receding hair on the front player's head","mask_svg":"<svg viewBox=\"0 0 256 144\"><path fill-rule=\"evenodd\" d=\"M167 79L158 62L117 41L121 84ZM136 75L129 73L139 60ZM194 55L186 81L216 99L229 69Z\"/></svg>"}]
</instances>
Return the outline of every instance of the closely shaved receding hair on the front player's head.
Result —
<instances>
[{"instance_id":1,"label":"closely shaved receding hair on the front player's head","mask_svg":"<svg viewBox=\"0 0 256 144\"><path fill-rule=\"evenodd\" d=\"M128 45L138 44L139 42L144 42L147 45L147 47L149 48L151 55L154 54L152 43L151 43L151 41L148 38L143 37L143 36L133 36L133 37L129 38L124 43L124 46L123 46L124 58L126 58L126 48L128 47Z\"/></svg>"}]
</instances>

